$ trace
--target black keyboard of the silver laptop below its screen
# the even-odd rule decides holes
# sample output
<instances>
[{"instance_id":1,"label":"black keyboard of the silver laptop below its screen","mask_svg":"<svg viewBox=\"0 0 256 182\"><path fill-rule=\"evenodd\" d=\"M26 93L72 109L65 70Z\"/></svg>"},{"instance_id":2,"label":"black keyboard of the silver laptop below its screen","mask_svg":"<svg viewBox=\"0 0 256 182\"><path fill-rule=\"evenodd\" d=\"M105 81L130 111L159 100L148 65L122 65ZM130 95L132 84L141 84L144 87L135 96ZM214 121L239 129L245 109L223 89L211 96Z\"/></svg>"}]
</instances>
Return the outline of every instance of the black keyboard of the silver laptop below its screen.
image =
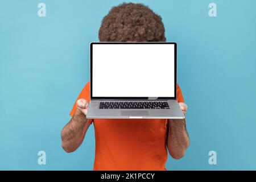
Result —
<instances>
[{"instance_id":1,"label":"black keyboard of the silver laptop below its screen","mask_svg":"<svg viewBox=\"0 0 256 182\"><path fill-rule=\"evenodd\" d=\"M170 109L168 102L100 102L100 109Z\"/></svg>"}]
</instances>

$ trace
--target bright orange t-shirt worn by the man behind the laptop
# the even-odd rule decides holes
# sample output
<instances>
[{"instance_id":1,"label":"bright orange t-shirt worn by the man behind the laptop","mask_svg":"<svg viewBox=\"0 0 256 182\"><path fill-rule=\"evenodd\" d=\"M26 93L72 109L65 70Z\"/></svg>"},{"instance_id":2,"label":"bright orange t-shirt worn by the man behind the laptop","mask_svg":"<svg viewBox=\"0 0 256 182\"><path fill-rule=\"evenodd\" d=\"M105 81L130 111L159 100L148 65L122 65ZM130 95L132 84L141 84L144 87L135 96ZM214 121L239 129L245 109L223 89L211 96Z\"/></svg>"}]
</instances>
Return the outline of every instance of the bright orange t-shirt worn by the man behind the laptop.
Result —
<instances>
[{"instance_id":1,"label":"bright orange t-shirt worn by the man behind the laptop","mask_svg":"<svg viewBox=\"0 0 256 182\"><path fill-rule=\"evenodd\" d=\"M90 101L90 82L77 100ZM183 96L177 85L177 101ZM70 113L76 111L76 103ZM92 123L92 120L89 121ZM94 170L166 170L167 119L94 119Z\"/></svg>"}]
</instances>

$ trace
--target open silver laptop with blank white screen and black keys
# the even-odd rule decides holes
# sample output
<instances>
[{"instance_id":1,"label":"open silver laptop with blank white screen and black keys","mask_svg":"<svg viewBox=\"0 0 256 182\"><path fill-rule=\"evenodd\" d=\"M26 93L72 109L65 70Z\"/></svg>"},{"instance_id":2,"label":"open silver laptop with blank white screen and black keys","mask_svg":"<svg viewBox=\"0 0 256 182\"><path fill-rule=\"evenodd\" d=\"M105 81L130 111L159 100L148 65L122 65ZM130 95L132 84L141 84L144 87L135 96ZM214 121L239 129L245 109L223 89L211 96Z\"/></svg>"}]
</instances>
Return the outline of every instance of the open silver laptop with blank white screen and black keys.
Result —
<instances>
[{"instance_id":1,"label":"open silver laptop with blank white screen and black keys","mask_svg":"<svg viewBox=\"0 0 256 182\"><path fill-rule=\"evenodd\" d=\"M86 118L183 119L176 101L176 67L176 43L90 43Z\"/></svg>"}]
</instances>

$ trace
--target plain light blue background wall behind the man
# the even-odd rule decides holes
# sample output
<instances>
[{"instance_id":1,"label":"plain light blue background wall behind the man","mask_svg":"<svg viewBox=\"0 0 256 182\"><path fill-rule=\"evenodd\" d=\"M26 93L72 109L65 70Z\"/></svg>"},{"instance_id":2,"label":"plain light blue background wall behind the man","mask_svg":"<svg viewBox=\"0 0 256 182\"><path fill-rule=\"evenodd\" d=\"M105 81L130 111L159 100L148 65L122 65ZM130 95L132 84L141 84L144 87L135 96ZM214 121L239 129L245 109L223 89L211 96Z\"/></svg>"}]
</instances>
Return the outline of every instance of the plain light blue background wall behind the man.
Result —
<instances>
[{"instance_id":1,"label":"plain light blue background wall behind the man","mask_svg":"<svg viewBox=\"0 0 256 182\"><path fill-rule=\"evenodd\" d=\"M89 81L88 44L121 2L0 1L0 169L93 168L93 125L72 154L61 148L60 131ZM169 156L167 169L256 169L256 1L132 2L161 15L167 41L178 43L191 146L183 159ZM38 165L40 150L46 165ZM208 163L211 150L217 165Z\"/></svg>"}]
</instances>

